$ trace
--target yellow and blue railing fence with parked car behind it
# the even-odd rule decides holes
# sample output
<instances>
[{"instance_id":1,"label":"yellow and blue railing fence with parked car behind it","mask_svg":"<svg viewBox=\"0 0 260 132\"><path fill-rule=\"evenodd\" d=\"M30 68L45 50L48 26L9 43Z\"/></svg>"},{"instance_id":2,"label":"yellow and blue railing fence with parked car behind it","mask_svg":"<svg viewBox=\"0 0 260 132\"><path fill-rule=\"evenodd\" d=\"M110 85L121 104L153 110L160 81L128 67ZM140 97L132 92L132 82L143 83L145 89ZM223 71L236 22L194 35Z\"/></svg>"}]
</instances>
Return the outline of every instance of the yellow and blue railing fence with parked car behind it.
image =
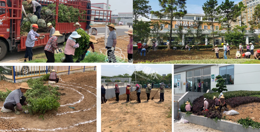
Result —
<instances>
[{"instance_id":1,"label":"yellow and blue railing fence with parked car behind it","mask_svg":"<svg viewBox=\"0 0 260 132\"><path fill-rule=\"evenodd\" d=\"M8 81L23 82L55 70L57 75L96 70L96 66L3 66L3 75Z\"/></svg>"}]
</instances>

